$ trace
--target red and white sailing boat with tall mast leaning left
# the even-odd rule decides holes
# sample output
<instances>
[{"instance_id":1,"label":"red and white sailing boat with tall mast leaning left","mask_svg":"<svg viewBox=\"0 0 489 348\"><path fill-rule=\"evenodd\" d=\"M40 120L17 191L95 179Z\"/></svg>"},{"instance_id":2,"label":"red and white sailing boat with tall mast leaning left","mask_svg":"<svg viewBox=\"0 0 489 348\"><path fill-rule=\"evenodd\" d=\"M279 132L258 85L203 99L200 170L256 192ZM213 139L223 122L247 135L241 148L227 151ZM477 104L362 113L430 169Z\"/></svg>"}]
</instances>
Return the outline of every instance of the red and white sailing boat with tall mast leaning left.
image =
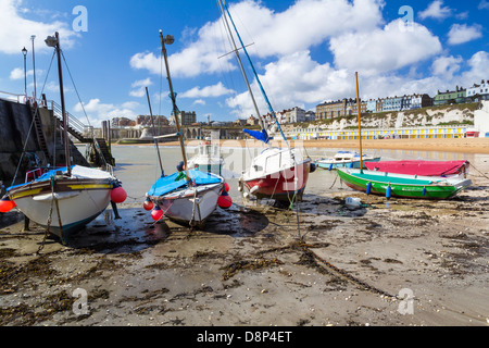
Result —
<instances>
[{"instance_id":1,"label":"red and white sailing boat with tall mast leaning left","mask_svg":"<svg viewBox=\"0 0 489 348\"><path fill-rule=\"evenodd\" d=\"M241 49L248 58L250 66L253 71L254 77L261 88L262 95L268 105L268 111L272 114L272 117L275 121L275 126L280 132L283 139L287 144L287 148L273 148L269 147L262 151L259 156L253 158L251 165L244 171L239 178L239 189L242 190L243 186L247 187L249 192L256 198L273 198L280 201L291 202L294 200L301 200L302 194L305 189L305 185L308 183L309 173L312 169L311 159L303 158L301 151L298 149L290 148L286 136L281 132L280 125L276 117L276 114L272 108L272 104L263 89L263 86L260 82L259 75L254 70L253 63L251 62L250 55L241 40L241 37L236 28L236 25L233 21L233 17L229 13L227 5L223 0L217 1L221 8L221 12L223 13L223 20L225 26L227 28L230 41L234 46L234 51L236 53L236 58L238 60L239 66L241 69L241 73L243 75L244 82L248 87L249 95L253 102L254 110L256 112L256 116L260 122L260 126L262 128L261 132L258 130L249 130L243 129L244 133L263 141L268 145L271 138L268 136L268 129L264 124L264 121L261 116L261 113L258 109L256 101L254 99L253 92L251 90L250 84L248 82L247 74L242 66L241 58L238 52L238 48L233 37L233 33L229 27L229 23L227 17L233 24L235 33L240 41ZM227 17L226 17L227 14Z\"/></svg>"}]
</instances>

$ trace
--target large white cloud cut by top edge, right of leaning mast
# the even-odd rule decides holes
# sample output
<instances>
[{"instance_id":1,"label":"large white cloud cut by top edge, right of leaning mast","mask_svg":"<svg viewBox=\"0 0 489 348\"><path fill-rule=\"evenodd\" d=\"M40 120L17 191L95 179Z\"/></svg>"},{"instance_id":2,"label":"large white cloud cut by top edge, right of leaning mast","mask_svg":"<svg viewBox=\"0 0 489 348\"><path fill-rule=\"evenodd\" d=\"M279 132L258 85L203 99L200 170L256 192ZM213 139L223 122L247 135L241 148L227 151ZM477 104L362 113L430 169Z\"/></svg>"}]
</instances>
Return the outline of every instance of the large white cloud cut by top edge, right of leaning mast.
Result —
<instances>
[{"instance_id":1,"label":"large white cloud cut by top edge, right of leaning mast","mask_svg":"<svg viewBox=\"0 0 489 348\"><path fill-rule=\"evenodd\" d=\"M255 42L250 53L264 58L306 50L346 30L368 32L383 22L380 9L375 0L302 0L279 13L251 1L229 11L239 33L250 37L244 44Z\"/></svg>"}]
</instances>

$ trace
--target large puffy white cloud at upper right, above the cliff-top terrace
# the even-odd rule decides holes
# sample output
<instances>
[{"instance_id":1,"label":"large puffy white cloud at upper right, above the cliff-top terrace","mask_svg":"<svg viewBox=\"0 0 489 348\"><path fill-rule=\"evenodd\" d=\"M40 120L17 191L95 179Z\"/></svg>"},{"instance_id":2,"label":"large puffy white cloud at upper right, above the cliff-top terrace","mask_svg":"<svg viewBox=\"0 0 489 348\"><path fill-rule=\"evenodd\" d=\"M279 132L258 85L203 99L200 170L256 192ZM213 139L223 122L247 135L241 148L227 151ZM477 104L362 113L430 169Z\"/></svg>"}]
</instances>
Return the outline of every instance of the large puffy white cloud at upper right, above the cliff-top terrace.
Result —
<instances>
[{"instance_id":1,"label":"large puffy white cloud at upper right, above the cliff-top terrace","mask_svg":"<svg viewBox=\"0 0 489 348\"><path fill-rule=\"evenodd\" d=\"M330 50L338 67L375 75L422 62L441 51L438 37L425 26L403 27L397 20L368 33L349 33L331 38Z\"/></svg>"}]
</instances>

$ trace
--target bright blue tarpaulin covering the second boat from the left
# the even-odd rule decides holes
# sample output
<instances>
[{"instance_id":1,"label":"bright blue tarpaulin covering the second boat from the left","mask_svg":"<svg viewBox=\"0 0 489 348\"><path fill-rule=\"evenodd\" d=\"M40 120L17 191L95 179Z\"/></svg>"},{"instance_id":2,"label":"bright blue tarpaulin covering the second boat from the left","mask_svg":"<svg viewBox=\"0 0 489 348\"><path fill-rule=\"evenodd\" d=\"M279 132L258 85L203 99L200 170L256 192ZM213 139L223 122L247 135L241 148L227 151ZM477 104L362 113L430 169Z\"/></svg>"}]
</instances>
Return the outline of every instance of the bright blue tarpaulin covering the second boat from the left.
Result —
<instances>
[{"instance_id":1,"label":"bright blue tarpaulin covering the second boat from the left","mask_svg":"<svg viewBox=\"0 0 489 348\"><path fill-rule=\"evenodd\" d=\"M151 189L148 191L150 196L166 195L174 189L185 187L187 185L187 178L180 178L175 181L180 172L175 172L172 175L159 178ZM221 177L208 172L201 172L198 170L190 170L189 175L196 185L217 184L221 183Z\"/></svg>"}]
</instances>

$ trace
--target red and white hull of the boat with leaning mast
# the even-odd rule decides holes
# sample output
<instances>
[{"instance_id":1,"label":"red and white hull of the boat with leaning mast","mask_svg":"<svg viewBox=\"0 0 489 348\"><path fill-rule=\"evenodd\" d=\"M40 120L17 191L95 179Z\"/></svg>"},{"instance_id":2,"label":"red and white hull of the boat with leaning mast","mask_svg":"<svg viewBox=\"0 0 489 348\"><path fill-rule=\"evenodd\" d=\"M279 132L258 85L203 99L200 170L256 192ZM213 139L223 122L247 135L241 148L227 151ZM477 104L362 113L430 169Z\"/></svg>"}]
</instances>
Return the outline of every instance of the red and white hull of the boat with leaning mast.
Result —
<instances>
[{"instance_id":1,"label":"red and white hull of the boat with leaning mast","mask_svg":"<svg viewBox=\"0 0 489 348\"><path fill-rule=\"evenodd\" d=\"M256 198L272 198L279 201L301 200L308 183L311 160L273 174L241 179L251 195Z\"/></svg>"}]
</instances>

